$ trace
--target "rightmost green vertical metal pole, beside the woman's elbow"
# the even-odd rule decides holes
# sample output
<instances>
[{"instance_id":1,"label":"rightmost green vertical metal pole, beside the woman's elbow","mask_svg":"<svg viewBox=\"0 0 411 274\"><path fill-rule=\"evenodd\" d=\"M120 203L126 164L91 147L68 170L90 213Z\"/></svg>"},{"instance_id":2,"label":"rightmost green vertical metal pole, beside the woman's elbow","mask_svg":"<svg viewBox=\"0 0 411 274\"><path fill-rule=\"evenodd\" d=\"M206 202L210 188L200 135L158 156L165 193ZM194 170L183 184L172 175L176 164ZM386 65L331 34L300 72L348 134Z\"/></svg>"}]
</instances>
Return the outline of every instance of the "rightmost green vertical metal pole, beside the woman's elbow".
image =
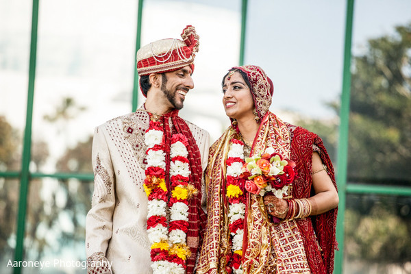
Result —
<instances>
[{"instance_id":1,"label":"rightmost green vertical metal pole, beside the woman's elbow","mask_svg":"<svg viewBox=\"0 0 411 274\"><path fill-rule=\"evenodd\" d=\"M351 91L351 38L353 30L354 0L347 0L347 14L345 23L345 46L343 68L343 93L341 95L340 129L338 136L337 185L340 204L338 206L337 231L339 251L336 252L335 273L343 273L344 263L344 216L345 200L347 195L347 155L349 136L349 101Z\"/></svg>"}]
</instances>

